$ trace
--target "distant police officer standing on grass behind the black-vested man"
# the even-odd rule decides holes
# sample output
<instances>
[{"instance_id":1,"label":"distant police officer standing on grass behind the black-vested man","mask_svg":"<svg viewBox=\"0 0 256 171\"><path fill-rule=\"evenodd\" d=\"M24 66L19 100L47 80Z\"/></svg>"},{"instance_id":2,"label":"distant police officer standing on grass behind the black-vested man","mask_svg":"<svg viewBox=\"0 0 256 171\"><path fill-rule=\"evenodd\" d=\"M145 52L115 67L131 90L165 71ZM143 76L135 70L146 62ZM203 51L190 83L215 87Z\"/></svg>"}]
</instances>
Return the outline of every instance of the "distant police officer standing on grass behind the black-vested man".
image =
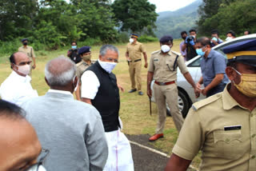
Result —
<instances>
[{"instance_id":1,"label":"distant police officer standing on grass behind the black-vested man","mask_svg":"<svg viewBox=\"0 0 256 171\"><path fill-rule=\"evenodd\" d=\"M141 70L142 70L142 54L144 56L145 65L147 68L147 56L146 50L142 43L137 41L137 34L130 34L129 43L126 46L126 59L129 65L129 73L130 73L130 82L131 89L129 93L133 93L137 91L136 82L138 88L138 95L143 95L142 93L142 78L141 78ZM136 78L136 82L135 82Z\"/></svg>"}]
</instances>

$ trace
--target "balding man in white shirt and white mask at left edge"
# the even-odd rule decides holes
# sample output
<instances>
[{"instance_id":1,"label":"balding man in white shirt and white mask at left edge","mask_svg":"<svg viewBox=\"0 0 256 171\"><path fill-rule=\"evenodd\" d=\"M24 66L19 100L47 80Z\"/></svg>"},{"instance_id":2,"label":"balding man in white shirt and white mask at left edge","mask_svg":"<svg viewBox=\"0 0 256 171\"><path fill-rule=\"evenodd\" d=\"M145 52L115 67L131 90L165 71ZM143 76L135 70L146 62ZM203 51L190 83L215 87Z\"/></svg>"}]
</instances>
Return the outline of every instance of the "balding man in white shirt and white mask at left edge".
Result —
<instances>
[{"instance_id":1,"label":"balding man in white shirt and white mask at left edge","mask_svg":"<svg viewBox=\"0 0 256 171\"><path fill-rule=\"evenodd\" d=\"M0 96L3 100L22 105L32 97L38 97L38 92L30 84L30 65L30 58L26 54L16 52L10 55L10 68L13 71L0 86Z\"/></svg>"}]
</instances>

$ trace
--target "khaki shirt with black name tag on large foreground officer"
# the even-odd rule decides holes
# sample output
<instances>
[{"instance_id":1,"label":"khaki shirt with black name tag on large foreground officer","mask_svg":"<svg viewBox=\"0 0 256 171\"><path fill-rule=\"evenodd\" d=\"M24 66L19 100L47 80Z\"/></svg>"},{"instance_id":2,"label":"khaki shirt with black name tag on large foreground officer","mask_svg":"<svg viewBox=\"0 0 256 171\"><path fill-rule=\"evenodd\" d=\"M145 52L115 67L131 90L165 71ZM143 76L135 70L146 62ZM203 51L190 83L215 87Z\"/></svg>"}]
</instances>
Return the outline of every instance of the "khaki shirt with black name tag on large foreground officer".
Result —
<instances>
[{"instance_id":1,"label":"khaki shirt with black name tag on large foreground officer","mask_svg":"<svg viewBox=\"0 0 256 171\"><path fill-rule=\"evenodd\" d=\"M255 171L256 108L239 105L229 87L192 105L173 153L192 160L201 149L200 170Z\"/></svg>"}]
</instances>

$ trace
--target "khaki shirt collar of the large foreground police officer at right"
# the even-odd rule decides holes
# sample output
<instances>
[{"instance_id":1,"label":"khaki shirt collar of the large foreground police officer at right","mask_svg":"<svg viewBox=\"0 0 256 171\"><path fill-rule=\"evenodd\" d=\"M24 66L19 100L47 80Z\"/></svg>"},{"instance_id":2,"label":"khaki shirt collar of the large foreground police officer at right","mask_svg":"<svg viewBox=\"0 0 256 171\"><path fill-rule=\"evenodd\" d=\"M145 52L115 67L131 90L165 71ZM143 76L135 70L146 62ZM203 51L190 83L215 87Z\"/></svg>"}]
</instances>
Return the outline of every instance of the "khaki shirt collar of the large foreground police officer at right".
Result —
<instances>
[{"instance_id":1,"label":"khaki shirt collar of the large foreground police officer at right","mask_svg":"<svg viewBox=\"0 0 256 171\"><path fill-rule=\"evenodd\" d=\"M239 106L242 109L242 105L238 104L238 101L235 101L234 98L230 95L228 89L230 89L231 83L227 84L222 93L223 109L232 109L234 106Z\"/></svg>"}]
</instances>

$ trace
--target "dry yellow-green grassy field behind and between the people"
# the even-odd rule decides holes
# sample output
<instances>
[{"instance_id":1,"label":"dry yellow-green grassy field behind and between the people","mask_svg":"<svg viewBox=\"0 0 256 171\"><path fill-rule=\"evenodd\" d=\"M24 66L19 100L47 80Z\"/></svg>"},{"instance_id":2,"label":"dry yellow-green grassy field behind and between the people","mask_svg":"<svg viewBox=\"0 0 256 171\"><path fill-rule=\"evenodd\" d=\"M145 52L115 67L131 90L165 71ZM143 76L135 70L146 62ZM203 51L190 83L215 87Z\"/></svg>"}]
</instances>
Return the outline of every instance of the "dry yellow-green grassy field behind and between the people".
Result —
<instances>
[{"instance_id":1,"label":"dry yellow-green grassy field behind and between the people","mask_svg":"<svg viewBox=\"0 0 256 171\"><path fill-rule=\"evenodd\" d=\"M179 51L179 43L181 40L174 41L174 47L172 50ZM146 52L148 55L148 62L150 54L155 50L159 50L159 42L144 43L146 47ZM82 46L82 45L80 45ZM146 74L147 70L142 68L142 91L145 93L143 96L139 96L138 93L127 93L130 90L130 78L128 72L128 66L125 58L126 44L116 45L119 50L119 63L114 69L114 74L118 78L118 83L122 85L125 89L124 93L120 93L121 96L121 109L120 117L123 122L123 132L127 134L154 134L156 124L158 121L157 108L154 103L152 103L152 116L150 116L150 104L149 99L146 96ZM66 50L56 50L51 52L39 51L35 52L37 55L37 67L32 73L32 86L34 89L38 90L39 95L43 95L49 89L44 80L44 67L46 62L52 58L57 58L60 55L66 56ZM92 58L98 58L98 51L100 46L92 47ZM144 62L142 62L144 64ZM143 66L143 65L142 65ZM61 67L61 66L60 66ZM10 74L10 63L8 57L0 57L0 83L2 83L6 77ZM174 143L177 140L178 132L175 129L172 117L166 118L166 127L164 131L165 137L155 141L149 142L156 148L161 149L166 153L171 153L171 149L174 147ZM193 165L198 167L200 162L199 157L195 157Z\"/></svg>"}]
</instances>

